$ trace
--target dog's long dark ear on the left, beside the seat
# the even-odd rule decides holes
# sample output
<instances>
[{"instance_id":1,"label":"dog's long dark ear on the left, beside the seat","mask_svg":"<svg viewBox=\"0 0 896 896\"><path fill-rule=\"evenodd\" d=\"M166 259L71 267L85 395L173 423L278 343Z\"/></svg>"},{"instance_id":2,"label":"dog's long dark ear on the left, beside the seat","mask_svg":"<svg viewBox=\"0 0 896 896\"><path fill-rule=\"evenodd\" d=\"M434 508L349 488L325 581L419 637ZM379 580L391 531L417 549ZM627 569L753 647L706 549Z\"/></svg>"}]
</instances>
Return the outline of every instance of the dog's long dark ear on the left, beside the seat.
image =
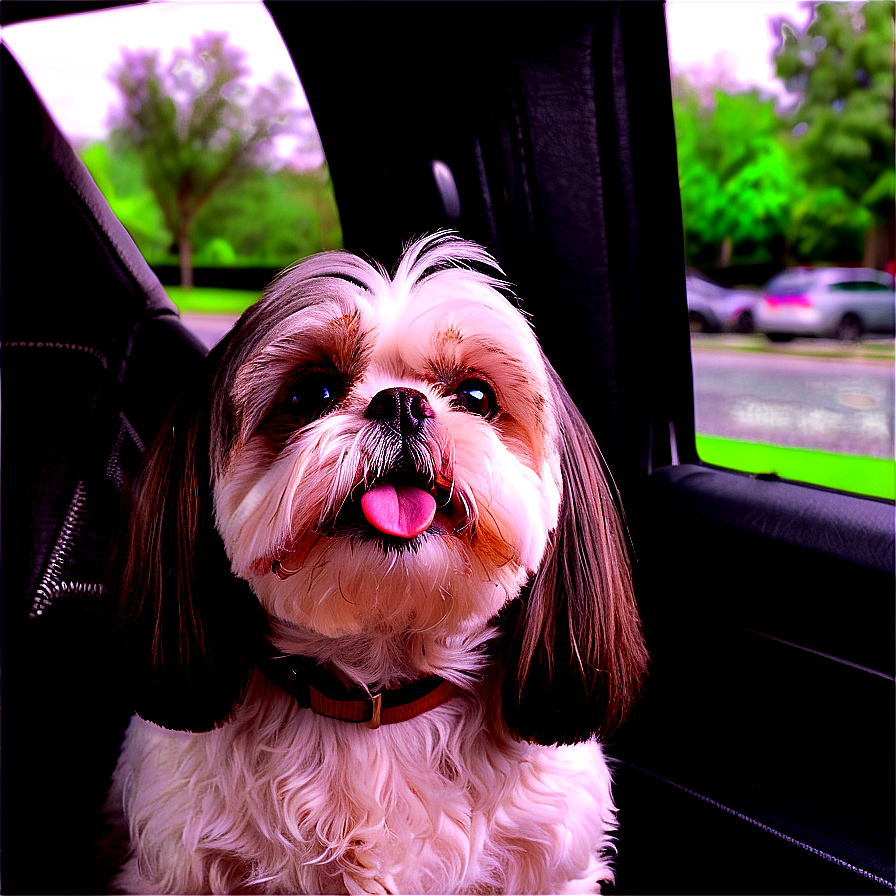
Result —
<instances>
[{"instance_id":1,"label":"dog's long dark ear on the left, beside the seat","mask_svg":"<svg viewBox=\"0 0 896 896\"><path fill-rule=\"evenodd\" d=\"M265 617L230 572L214 527L209 460L217 353L182 392L144 460L115 550L120 661L134 709L208 731L241 700Z\"/></svg>"}]
</instances>

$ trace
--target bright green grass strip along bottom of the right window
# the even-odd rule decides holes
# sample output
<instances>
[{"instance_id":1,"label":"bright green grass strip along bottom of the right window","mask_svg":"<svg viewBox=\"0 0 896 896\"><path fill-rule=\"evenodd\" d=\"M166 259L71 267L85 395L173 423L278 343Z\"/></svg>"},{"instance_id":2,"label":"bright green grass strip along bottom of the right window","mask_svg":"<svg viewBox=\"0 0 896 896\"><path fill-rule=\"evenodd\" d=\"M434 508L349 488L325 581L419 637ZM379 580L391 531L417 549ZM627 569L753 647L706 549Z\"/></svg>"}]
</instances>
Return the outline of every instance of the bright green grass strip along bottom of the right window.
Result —
<instances>
[{"instance_id":1,"label":"bright green grass strip along bottom of the right window","mask_svg":"<svg viewBox=\"0 0 896 896\"><path fill-rule=\"evenodd\" d=\"M889 458L831 454L705 435L697 436L697 452L706 463L719 467L746 473L774 473L782 479L875 498L896 498L896 460Z\"/></svg>"}]
</instances>

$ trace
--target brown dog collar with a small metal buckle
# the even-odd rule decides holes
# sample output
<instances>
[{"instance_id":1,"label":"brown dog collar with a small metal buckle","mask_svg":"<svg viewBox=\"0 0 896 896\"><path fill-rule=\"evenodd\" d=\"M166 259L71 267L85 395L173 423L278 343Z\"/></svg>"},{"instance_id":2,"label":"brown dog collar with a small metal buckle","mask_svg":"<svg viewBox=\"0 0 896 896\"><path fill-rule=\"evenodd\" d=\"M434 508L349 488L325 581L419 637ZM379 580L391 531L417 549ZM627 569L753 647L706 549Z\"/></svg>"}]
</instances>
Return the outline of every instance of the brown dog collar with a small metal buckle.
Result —
<instances>
[{"instance_id":1,"label":"brown dog collar with a small metal buckle","mask_svg":"<svg viewBox=\"0 0 896 896\"><path fill-rule=\"evenodd\" d=\"M345 684L316 660L304 656L276 654L257 665L274 684L294 697L299 706L330 719L363 723L368 728L405 722L464 693L456 684L438 675L424 675L371 693Z\"/></svg>"}]
</instances>

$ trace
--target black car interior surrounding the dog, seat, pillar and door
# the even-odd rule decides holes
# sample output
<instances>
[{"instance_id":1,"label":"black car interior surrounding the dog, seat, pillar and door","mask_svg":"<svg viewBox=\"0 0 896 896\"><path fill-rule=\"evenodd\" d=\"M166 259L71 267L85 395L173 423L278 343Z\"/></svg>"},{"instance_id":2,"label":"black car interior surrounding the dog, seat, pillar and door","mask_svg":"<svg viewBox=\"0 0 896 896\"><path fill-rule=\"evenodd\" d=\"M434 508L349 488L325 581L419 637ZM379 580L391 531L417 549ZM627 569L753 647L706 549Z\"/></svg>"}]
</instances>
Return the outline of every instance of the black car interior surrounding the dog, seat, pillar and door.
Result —
<instances>
[{"instance_id":1,"label":"black car interior surrounding the dog, seat, pillar and door","mask_svg":"<svg viewBox=\"0 0 896 896\"><path fill-rule=\"evenodd\" d=\"M664 4L266 6L346 247L486 246L612 471L651 664L611 891L892 892L894 507L698 456ZM96 893L104 564L203 349L5 47L2 122L3 889Z\"/></svg>"}]
</instances>

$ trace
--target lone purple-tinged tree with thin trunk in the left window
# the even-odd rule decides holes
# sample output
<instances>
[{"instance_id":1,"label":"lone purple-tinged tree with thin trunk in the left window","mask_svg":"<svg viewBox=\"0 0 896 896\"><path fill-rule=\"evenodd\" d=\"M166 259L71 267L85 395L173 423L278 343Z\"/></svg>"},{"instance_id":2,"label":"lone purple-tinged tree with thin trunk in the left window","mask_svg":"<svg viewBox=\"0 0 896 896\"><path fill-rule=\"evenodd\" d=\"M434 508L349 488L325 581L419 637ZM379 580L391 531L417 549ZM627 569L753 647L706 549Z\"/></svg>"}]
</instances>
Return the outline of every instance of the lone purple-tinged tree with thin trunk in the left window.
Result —
<instances>
[{"instance_id":1,"label":"lone purple-tinged tree with thin trunk in the left window","mask_svg":"<svg viewBox=\"0 0 896 896\"><path fill-rule=\"evenodd\" d=\"M136 151L180 259L181 285L193 283L192 232L222 186L266 162L274 138L297 133L292 87L282 76L250 91L243 50L206 32L163 66L157 50L122 50L111 73L121 104L111 113L115 140Z\"/></svg>"}]
</instances>

